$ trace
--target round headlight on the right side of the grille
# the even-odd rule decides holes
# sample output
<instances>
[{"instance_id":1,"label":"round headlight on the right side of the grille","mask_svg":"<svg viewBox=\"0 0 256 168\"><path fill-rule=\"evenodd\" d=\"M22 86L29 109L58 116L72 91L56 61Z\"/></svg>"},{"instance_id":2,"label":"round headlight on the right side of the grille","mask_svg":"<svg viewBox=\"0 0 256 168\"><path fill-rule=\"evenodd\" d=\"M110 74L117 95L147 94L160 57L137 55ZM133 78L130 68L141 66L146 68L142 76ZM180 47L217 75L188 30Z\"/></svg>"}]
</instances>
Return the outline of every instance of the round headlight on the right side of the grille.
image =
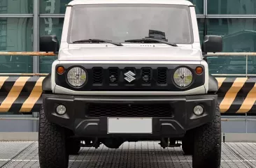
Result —
<instances>
[{"instance_id":1,"label":"round headlight on the right side of the grille","mask_svg":"<svg viewBox=\"0 0 256 168\"><path fill-rule=\"evenodd\" d=\"M189 86L192 83L193 75L188 68L178 68L173 75L174 82L180 87Z\"/></svg>"}]
</instances>

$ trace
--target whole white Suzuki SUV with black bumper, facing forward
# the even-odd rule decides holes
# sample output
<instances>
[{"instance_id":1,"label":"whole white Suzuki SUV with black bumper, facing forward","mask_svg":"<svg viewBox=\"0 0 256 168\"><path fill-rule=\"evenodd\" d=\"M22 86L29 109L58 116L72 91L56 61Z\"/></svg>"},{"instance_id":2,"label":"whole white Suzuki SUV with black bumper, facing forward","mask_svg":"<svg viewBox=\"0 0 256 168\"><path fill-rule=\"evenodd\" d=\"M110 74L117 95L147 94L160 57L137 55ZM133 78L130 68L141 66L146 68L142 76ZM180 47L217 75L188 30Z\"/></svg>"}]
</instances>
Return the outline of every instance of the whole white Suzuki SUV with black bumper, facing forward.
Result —
<instances>
[{"instance_id":1,"label":"whole white Suzuki SUV with black bumper, facing forward","mask_svg":"<svg viewBox=\"0 0 256 168\"><path fill-rule=\"evenodd\" d=\"M60 47L41 37L40 50L58 54L43 81L41 168L68 167L82 140L181 140L194 168L220 167L218 82L203 53L221 52L222 38L205 36L202 46L189 1L71 1Z\"/></svg>"}]
</instances>

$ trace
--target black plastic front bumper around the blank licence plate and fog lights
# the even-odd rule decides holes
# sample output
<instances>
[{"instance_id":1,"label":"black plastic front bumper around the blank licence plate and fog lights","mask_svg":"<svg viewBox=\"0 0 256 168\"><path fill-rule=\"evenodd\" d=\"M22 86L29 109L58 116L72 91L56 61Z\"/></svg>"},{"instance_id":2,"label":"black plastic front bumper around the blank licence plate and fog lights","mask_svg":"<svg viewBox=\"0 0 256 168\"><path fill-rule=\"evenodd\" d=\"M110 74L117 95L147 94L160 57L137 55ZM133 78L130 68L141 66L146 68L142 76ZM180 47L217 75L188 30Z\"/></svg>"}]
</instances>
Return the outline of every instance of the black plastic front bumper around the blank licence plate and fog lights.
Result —
<instances>
[{"instance_id":1,"label":"black plastic front bumper around the blank licence plate and fog lights","mask_svg":"<svg viewBox=\"0 0 256 168\"><path fill-rule=\"evenodd\" d=\"M43 105L47 119L62 125L64 128L73 130L78 137L183 137L186 130L196 128L200 125L213 121L215 116L215 106L217 105L217 95L204 96L66 96L57 94L43 94ZM150 117L152 115L152 133L151 134L108 134L108 116L90 116L89 105L103 104L105 109L111 105L127 105L129 107L138 107L139 105L157 107L158 105L169 105L170 113L168 115L160 114L141 114ZM66 114L58 115L56 113L57 105L66 107ZM204 114L196 116L193 113L196 105L204 107ZM119 107L117 107L118 109ZM159 107L163 108L163 107ZM104 109L102 109L104 111ZM112 109L111 109L112 110ZM116 111L115 109L113 109ZM142 109L141 109L142 110ZM98 110L99 111L99 110ZM144 110L145 111L145 110ZM164 112L164 110L162 110ZM128 111L127 111L128 112ZM138 110L138 112L142 112ZM104 113L105 115L107 113ZM108 113L109 114L109 113ZM121 115L121 114L120 114ZM115 117L131 117L127 116ZM149 116L148 116L149 115ZM113 117L113 116L112 116ZM134 116L132 116L134 117Z\"/></svg>"}]
</instances>

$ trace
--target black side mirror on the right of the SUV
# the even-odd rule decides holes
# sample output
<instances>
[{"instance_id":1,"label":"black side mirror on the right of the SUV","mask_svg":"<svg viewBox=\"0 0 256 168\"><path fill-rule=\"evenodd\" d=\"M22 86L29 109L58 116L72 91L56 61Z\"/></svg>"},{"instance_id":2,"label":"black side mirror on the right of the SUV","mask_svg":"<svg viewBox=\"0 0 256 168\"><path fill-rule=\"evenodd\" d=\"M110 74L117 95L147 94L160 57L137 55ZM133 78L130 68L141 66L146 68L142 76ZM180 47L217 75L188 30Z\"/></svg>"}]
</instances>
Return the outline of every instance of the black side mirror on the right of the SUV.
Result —
<instances>
[{"instance_id":1,"label":"black side mirror on the right of the SUV","mask_svg":"<svg viewBox=\"0 0 256 168\"><path fill-rule=\"evenodd\" d=\"M204 36L203 52L222 52L221 36Z\"/></svg>"}]
</instances>

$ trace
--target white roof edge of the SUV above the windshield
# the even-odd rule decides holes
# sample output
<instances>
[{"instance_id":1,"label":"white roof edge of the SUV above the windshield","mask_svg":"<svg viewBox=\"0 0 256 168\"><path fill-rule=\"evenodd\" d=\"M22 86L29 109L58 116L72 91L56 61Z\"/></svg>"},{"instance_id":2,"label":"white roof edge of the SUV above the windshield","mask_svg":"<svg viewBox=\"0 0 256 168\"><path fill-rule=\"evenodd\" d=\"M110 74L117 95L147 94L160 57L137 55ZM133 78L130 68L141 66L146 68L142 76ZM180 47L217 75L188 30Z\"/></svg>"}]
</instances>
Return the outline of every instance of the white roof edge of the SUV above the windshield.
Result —
<instances>
[{"instance_id":1,"label":"white roof edge of the SUV above the windshield","mask_svg":"<svg viewBox=\"0 0 256 168\"><path fill-rule=\"evenodd\" d=\"M166 4L166 5L185 5L193 4L187 0L73 0L69 6L86 4Z\"/></svg>"}]
</instances>

